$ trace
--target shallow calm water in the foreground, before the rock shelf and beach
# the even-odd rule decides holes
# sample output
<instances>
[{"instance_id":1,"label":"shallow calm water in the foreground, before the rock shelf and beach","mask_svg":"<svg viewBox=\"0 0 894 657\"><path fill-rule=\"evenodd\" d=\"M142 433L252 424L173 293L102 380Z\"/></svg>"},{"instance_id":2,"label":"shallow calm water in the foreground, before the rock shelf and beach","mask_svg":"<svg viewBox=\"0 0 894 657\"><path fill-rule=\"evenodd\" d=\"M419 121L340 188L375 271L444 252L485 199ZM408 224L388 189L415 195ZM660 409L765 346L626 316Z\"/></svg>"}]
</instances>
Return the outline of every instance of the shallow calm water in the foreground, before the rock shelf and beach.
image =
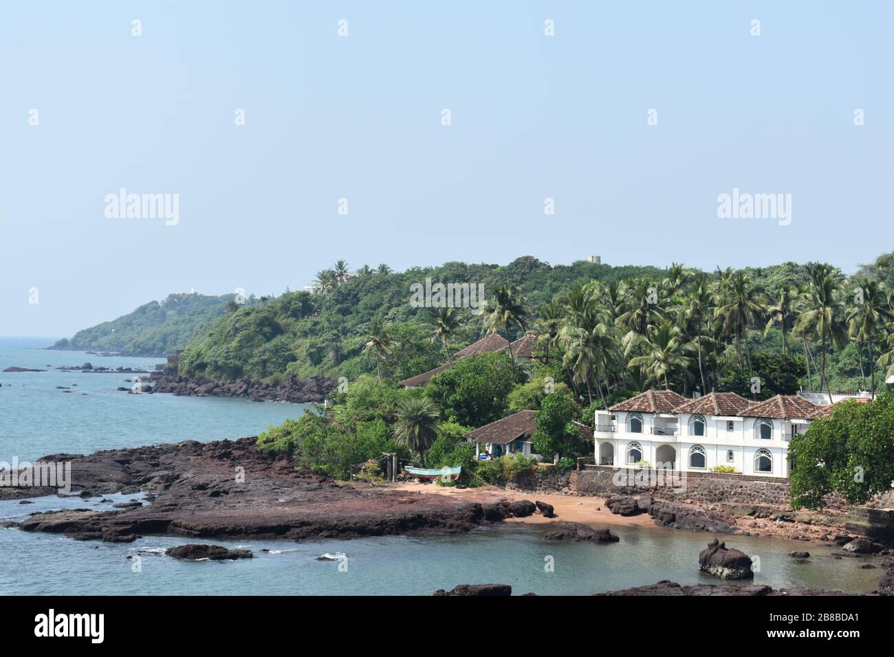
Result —
<instances>
[{"instance_id":1,"label":"shallow calm water in the foreground, before the rock shelf and beach","mask_svg":"<svg viewBox=\"0 0 894 657\"><path fill-rule=\"evenodd\" d=\"M132 499L110 496L114 501ZM104 508L99 499L39 498L35 504L0 501L0 518L23 518L36 510ZM612 529L620 543L547 543L542 526L506 524L464 535L385 536L311 543L226 541L247 548L250 560L184 562L165 557L165 548L190 540L145 536L135 543L72 541L59 535L0 529L0 594L420 594L458 584L496 582L514 593L594 594L671 579L681 584L718 584L698 572L698 552L711 535L659 527ZM808 585L861 593L872 591L882 570L864 570L877 559L835 560L831 548L808 546L809 563L788 556L804 543L749 536L727 539L730 546L761 558L755 582L773 586ZM261 552L267 549L271 552ZM347 556L347 572L337 561L317 561L328 552ZM140 557L139 572L133 557ZM131 556L128 560L127 557ZM554 569L546 572L544 559Z\"/></svg>"}]
</instances>

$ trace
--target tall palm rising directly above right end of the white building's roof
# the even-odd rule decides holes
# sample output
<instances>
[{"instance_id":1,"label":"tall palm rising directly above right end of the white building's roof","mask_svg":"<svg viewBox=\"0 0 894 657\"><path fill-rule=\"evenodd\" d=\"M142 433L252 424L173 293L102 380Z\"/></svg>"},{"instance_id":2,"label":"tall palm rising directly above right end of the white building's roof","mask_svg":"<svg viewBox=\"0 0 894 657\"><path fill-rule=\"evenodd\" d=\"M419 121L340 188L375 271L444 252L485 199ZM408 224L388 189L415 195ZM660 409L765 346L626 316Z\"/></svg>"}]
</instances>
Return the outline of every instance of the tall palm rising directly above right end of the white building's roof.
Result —
<instances>
[{"instance_id":1,"label":"tall palm rising directly above right end of the white building's roof","mask_svg":"<svg viewBox=\"0 0 894 657\"><path fill-rule=\"evenodd\" d=\"M820 338L822 361L820 366L820 387L825 386L832 403L829 381L826 379L826 350L841 349L846 341L845 326L842 321L841 282L831 265L808 265L810 287L804 300L805 309L797 317L792 333L806 335L813 333ZM809 355L809 354L808 354Z\"/></svg>"}]
</instances>

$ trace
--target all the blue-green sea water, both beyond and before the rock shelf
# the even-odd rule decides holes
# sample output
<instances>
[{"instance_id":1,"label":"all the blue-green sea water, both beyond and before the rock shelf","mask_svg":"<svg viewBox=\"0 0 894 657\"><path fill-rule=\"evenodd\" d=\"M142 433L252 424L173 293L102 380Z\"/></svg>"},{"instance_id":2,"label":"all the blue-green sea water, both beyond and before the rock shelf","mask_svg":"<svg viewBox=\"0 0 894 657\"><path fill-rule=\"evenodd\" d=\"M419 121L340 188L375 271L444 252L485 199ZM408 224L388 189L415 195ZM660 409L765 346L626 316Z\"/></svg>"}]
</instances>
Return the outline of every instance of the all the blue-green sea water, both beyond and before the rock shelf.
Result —
<instances>
[{"instance_id":1,"label":"all the blue-green sea water, both beyond and before the rock shelf","mask_svg":"<svg viewBox=\"0 0 894 657\"><path fill-rule=\"evenodd\" d=\"M58 453L130 447L192 439L239 438L299 417L305 407L212 397L115 392L129 375L82 374L46 368L61 365L131 366L151 370L156 358L101 358L83 352L39 349L46 341L0 340L0 370L7 366L49 369L0 373L0 460L37 459ZM75 385L75 383L77 385ZM73 392L57 390L69 386ZM86 392L87 394L81 394ZM139 495L109 496L112 501ZM100 498L56 496L32 504L0 501L0 520L38 510L107 509ZM612 529L620 543L545 543L542 527L506 524L465 535L389 536L312 543L214 541L244 547L251 560L183 562L163 555L186 538L145 536L135 543L72 541L60 535L0 529L0 594L431 594L458 584L498 582L514 592L594 594L671 579L716 583L698 572L698 552L711 535L659 527ZM788 552L804 543L733 537L728 544L761 557L759 583L805 585L849 592L873 590L881 569L865 560L835 560L831 548L808 546L814 557L796 564ZM270 552L262 552L267 549ZM347 572L319 554L343 552ZM128 557L131 559L128 559ZM133 571L134 557L140 569ZM552 557L554 569L544 570ZM873 560L870 560L875 562Z\"/></svg>"}]
</instances>

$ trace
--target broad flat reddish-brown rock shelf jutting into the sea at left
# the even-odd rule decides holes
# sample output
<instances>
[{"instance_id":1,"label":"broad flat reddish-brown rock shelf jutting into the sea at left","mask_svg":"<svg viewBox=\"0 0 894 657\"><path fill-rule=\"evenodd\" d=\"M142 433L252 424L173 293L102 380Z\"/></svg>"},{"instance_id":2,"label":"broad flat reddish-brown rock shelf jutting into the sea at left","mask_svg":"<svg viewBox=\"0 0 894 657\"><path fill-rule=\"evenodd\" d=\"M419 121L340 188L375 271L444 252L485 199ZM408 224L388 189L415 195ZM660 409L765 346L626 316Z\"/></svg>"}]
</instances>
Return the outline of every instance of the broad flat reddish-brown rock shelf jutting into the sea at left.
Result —
<instances>
[{"instance_id":1,"label":"broad flat reddish-brown rock shelf jutting into the sea at left","mask_svg":"<svg viewBox=\"0 0 894 657\"><path fill-rule=\"evenodd\" d=\"M255 441L186 441L43 457L41 461L71 462L72 490L82 497L144 491L151 503L122 504L111 511L35 513L18 526L114 543L144 534L308 540L467 532L536 512L531 501L510 506L341 484L296 471L291 461L258 451ZM55 493L52 488L0 488L0 499Z\"/></svg>"}]
</instances>

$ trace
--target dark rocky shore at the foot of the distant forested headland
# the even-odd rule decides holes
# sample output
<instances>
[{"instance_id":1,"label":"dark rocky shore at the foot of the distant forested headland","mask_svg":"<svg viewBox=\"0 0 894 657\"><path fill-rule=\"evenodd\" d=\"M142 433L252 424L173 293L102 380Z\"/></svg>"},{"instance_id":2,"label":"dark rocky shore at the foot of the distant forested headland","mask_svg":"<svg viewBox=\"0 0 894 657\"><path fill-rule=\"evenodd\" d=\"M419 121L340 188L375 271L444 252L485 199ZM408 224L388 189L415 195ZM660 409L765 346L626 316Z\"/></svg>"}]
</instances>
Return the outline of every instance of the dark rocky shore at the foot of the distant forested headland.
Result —
<instances>
[{"instance_id":1,"label":"dark rocky shore at the foot of the distant forested headland","mask_svg":"<svg viewBox=\"0 0 894 657\"><path fill-rule=\"evenodd\" d=\"M174 395L187 396L247 397L257 401L288 401L293 404L322 404L336 386L334 381L325 376L310 376L307 379L290 376L278 383L266 383L244 376L220 382L201 376L155 372L148 380L153 383L153 392L170 392Z\"/></svg>"}]
</instances>

